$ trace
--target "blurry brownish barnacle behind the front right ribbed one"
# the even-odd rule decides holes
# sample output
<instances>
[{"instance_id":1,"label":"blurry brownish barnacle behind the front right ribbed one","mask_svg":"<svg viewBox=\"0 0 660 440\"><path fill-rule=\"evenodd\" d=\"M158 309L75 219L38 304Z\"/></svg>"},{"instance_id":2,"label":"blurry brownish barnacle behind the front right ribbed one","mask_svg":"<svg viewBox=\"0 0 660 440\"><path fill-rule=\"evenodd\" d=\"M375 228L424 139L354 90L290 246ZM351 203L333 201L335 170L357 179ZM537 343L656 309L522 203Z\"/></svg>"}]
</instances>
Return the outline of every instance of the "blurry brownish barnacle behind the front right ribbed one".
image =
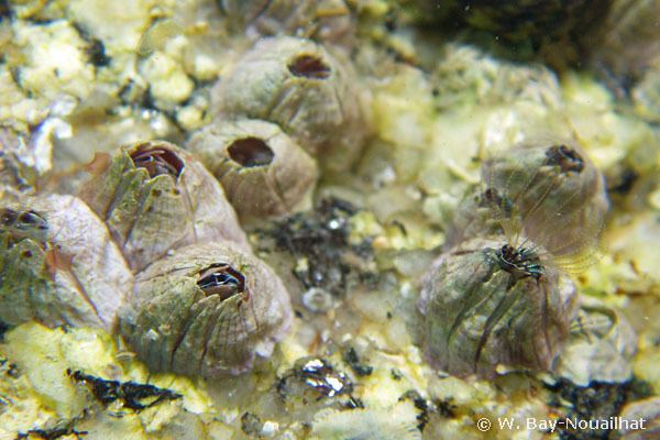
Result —
<instances>
[{"instance_id":1,"label":"blurry brownish barnacle behind the front right ribbed one","mask_svg":"<svg viewBox=\"0 0 660 440\"><path fill-rule=\"evenodd\" d=\"M497 194L492 216L556 256L598 244L609 201L603 175L579 146L542 141L513 147L486 161L482 180L483 190Z\"/></svg>"}]
</instances>

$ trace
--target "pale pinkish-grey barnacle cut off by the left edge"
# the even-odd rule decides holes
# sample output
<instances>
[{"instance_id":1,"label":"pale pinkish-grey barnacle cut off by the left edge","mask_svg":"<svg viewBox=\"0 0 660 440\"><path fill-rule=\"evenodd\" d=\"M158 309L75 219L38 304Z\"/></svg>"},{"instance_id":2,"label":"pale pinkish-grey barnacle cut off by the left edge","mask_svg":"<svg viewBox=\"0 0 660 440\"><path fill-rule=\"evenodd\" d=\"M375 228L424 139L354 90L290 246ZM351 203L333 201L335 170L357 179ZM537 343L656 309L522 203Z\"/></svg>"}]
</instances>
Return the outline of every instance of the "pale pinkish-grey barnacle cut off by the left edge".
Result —
<instances>
[{"instance_id":1,"label":"pale pinkish-grey barnacle cut off by the left edge","mask_svg":"<svg viewBox=\"0 0 660 440\"><path fill-rule=\"evenodd\" d=\"M96 215L58 195L1 215L0 320L109 330L133 277Z\"/></svg>"}]
</instances>

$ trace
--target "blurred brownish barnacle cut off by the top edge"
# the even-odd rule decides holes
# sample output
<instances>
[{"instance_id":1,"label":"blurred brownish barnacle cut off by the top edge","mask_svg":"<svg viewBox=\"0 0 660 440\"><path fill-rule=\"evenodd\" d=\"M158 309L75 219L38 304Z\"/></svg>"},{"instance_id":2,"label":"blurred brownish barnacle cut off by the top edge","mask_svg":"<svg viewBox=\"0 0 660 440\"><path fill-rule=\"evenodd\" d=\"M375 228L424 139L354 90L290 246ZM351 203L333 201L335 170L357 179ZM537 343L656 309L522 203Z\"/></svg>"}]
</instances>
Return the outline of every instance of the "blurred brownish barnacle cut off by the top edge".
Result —
<instances>
[{"instance_id":1,"label":"blurred brownish barnacle cut off by the top edge","mask_svg":"<svg viewBox=\"0 0 660 440\"><path fill-rule=\"evenodd\" d=\"M232 25L260 35L287 34L349 43L354 31L343 0L218 0Z\"/></svg>"}]
</instances>

